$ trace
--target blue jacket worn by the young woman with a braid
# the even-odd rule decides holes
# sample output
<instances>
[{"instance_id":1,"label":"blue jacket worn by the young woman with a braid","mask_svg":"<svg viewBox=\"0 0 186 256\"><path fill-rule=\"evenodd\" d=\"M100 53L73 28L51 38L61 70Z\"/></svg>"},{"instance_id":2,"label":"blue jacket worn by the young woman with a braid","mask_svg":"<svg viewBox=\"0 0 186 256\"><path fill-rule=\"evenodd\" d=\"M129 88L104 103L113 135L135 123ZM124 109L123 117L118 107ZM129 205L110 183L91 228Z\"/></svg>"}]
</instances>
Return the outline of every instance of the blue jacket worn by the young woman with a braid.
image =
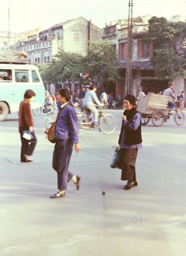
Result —
<instances>
[{"instance_id":1,"label":"blue jacket worn by the young woman with a braid","mask_svg":"<svg viewBox=\"0 0 186 256\"><path fill-rule=\"evenodd\" d=\"M71 140L72 143L79 143L79 126L76 117L75 109L67 103L69 106L60 115L56 123L55 139L58 140ZM61 111L61 104L58 104L58 114Z\"/></svg>"}]
</instances>

